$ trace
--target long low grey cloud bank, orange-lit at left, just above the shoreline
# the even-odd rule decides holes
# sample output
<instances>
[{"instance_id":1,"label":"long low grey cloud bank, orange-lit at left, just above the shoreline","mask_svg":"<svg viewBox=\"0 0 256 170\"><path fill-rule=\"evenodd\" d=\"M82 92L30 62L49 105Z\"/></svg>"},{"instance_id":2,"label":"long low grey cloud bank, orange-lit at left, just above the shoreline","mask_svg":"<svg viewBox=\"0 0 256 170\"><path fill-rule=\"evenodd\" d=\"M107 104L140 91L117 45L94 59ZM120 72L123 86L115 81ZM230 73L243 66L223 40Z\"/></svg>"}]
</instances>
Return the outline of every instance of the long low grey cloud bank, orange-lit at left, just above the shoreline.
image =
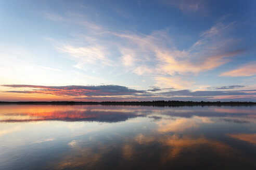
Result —
<instances>
[{"instance_id":1,"label":"long low grey cloud bank, orange-lit at left, just above the shoreline","mask_svg":"<svg viewBox=\"0 0 256 170\"><path fill-rule=\"evenodd\" d=\"M9 84L4 87L18 90L6 93L41 94L55 96L70 96L72 100L87 101L147 101L147 100L182 100L182 101L212 101L212 100L252 100L256 98L256 90L242 91L190 91L172 90L170 88L153 87L151 90L135 90L124 86L33 86ZM228 87L228 86L227 86ZM227 87L224 87L224 89ZM223 87L221 87L223 88ZM230 87L229 87L230 88ZM232 88L232 86L231 86ZM233 87L234 88L234 87Z\"/></svg>"}]
</instances>

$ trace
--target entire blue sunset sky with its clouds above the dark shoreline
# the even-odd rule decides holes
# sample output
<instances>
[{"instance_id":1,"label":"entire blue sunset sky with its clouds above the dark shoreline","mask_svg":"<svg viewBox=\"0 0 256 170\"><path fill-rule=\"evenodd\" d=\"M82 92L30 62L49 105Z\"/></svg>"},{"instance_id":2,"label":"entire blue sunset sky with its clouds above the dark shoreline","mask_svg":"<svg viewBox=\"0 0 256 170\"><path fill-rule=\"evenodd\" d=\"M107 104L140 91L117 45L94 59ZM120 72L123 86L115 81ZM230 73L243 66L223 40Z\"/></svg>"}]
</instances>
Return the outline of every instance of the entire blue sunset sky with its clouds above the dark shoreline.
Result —
<instances>
[{"instance_id":1,"label":"entire blue sunset sky with its clouds above the dark shoreline","mask_svg":"<svg viewBox=\"0 0 256 170\"><path fill-rule=\"evenodd\" d=\"M0 101L256 102L255 8L0 0Z\"/></svg>"}]
</instances>

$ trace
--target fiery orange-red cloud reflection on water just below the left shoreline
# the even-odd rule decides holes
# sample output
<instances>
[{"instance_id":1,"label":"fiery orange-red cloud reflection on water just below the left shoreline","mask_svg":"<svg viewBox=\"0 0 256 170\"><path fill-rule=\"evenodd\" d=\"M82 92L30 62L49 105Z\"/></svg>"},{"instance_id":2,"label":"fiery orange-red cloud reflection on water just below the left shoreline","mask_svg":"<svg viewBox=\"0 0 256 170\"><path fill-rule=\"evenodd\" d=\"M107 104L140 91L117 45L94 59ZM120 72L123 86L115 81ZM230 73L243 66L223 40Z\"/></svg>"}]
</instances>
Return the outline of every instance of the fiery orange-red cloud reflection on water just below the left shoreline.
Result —
<instances>
[{"instance_id":1,"label":"fiery orange-red cloud reflection on water just below the left shoreline","mask_svg":"<svg viewBox=\"0 0 256 170\"><path fill-rule=\"evenodd\" d=\"M105 119L117 117L135 117L136 115L124 109L94 109L94 106L72 106L72 105L5 105L0 109L0 121L22 122L22 121L43 121L43 120L65 120L80 121L94 120L105 117ZM119 118L122 119L122 118ZM118 119L118 120L119 120Z\"/></svg>"}]
</instances>

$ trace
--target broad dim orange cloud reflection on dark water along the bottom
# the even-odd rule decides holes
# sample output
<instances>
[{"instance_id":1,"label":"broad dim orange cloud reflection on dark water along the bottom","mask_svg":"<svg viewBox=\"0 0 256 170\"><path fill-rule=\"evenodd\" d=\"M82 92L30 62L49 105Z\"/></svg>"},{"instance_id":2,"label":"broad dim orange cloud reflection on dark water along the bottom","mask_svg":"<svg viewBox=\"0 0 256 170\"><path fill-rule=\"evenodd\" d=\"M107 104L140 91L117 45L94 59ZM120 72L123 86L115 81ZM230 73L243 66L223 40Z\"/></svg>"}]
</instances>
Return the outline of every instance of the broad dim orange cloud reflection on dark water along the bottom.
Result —
<instances>
[{"instance_id":1,"label":"broad dim orange cloud reflection on dark water along the bottom","mask_svg":"<svg viewBox=\"0 0 256 170\"><path fill-rule=\"evenodd\" d=\"M147 167L153 169L159 167L168 167L173 164L189 164L196 162L201 157L199 154L207 148L208 155L205 155L207 159L220 158L224 160L236 160L241 161L242 158L237 157L234 153L239 152L235 148L232 148L221 141L211 140L204 136L193 137L189 135L150 135L145 136L138 134L134 138L126 138L119 134L119 137L124 139L122 144L112 141L112 143L104 144L101 141L94 141L97 145L97 149L90 147L83 147L77 145L73 148L72 152L65 154L64 157L60 158L59 162L55 162L56 169L65 168L103 168L100 166L102 160L108 160L107 155L113 154L113 158L118 158L116 161L109 161L117 163L117 167L129 167L134 164L138 167ZM153 146L153 147L152 147ZM144 148L141 149L140 147ZM112 152L113 150L119 150L120 152ZM197 152L199 152L197 154ZM190 154L193 157L190 157ZM151 158L155 157L151 161ZM127 164L127 161L129 164ZM213 160L211 160L213 161ZM147 166L145 166L147 165ZM171 167L171 166L170 166Z\"/></svg>"}]
</instances>

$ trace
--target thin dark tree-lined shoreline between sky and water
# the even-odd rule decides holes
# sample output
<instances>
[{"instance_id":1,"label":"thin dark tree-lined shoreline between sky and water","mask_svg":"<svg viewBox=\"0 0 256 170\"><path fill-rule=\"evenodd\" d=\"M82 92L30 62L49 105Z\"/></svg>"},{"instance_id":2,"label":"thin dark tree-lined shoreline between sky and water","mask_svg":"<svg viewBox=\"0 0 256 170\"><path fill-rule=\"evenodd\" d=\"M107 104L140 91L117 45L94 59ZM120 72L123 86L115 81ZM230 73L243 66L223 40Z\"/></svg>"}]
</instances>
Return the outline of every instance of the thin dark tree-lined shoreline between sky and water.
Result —
<instances>
[{"instance_id":1,"label":"thin dark tree-lined shoreline between sky and water","mask_svg":"<svg viewBox=\"0 0 256 170\"><path fill-rule=\"evenodd\" d=\"M74 102L74 101L52 101L52 102L0 102L0 105L145 105L145 106L177 106L177 105L256 105L256 102L193 102L193 101L142 101L142 102Z\"/></svg>"}]
</instances>

